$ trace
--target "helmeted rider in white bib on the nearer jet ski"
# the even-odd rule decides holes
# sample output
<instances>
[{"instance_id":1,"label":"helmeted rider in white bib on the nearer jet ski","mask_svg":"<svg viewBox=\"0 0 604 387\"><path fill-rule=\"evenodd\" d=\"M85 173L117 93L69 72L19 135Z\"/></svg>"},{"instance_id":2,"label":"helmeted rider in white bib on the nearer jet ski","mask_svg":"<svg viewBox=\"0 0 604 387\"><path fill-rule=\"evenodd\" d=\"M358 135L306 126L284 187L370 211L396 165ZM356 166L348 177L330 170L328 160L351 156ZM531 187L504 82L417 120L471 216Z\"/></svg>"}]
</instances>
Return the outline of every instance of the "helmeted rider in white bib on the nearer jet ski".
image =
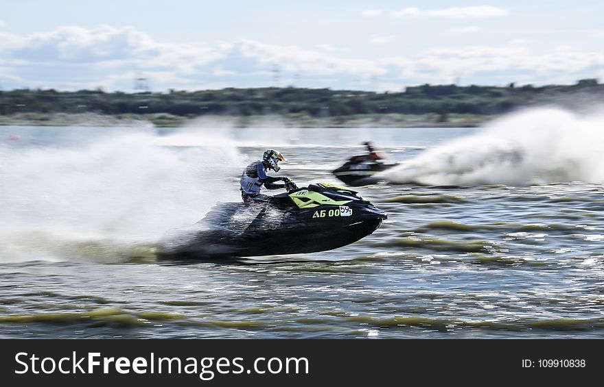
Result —
<instances>
[{"instance_id":1,"label":"helmeted rider in white bib on the nearer jet ski","mask_svg":"<svg viewBox=\"0 0 604 387\"><path fill-rule=\"evenodd\" d=\"M268 169L279 172L279 169L281 169L279 161L287 161L287 159L283 157L281 152L268 149L262 155L262 161L258 160L246 166L240 179L241 198L244 203L268 201L271 196L260 193L263 184L269 190L277 190L286 188L286 184L292 182L289 177L272 177L266 174ZM274 184L275 182L285 182L286 184Z\"/></svg>"}]
</instances>

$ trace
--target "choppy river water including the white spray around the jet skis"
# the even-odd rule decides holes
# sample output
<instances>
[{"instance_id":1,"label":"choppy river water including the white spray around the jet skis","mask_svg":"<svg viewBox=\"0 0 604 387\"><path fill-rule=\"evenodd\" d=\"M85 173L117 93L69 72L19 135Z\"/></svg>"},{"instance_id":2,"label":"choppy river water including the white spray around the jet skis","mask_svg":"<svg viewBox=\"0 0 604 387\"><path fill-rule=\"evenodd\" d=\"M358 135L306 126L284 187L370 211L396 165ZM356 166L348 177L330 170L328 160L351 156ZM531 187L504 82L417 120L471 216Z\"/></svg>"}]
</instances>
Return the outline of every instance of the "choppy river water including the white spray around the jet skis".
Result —
<instances>
[{"instance_id":1,"label":"choppy river water including the white spray around the jet skis","mask_svg":"<svg viewBox=\"0 0 604 387\"><path fill-rule=\"evenodd\" d=\"M600 124L545 111L485 128L0 127L0 337L601 338ZM371 236L154 258L238 201L265 149L299 186L338 183L365 140L402 162L358 188L388 212Z\"/></svg>"}]
</instances>

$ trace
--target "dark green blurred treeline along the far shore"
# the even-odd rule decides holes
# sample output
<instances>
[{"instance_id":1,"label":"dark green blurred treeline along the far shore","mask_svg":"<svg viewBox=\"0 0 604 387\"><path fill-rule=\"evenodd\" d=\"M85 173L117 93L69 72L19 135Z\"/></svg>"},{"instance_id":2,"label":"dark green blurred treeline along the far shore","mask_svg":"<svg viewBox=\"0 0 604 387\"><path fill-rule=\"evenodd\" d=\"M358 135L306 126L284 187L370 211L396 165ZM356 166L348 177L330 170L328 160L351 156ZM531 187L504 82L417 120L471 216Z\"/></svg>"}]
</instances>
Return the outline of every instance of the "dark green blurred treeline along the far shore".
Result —
<instances>
[{"instance_id":1,"label":"dark green blurred treeline along the far shore","mask_svg":"<svg viewBox=\"0 0 604 387\"><path fill-rule=\"evenodd\" d=\"M0 115L23 112L96 114L155 114L174 116L349 116L354 114L493 115L516 108L556 103L577 108L604 101L604 84L581 79L572 86L422 85L404 92L367 92L329 88L224 88L169 92L104 92L80 90L0 91Z\"/></svg>"}]
</instances>

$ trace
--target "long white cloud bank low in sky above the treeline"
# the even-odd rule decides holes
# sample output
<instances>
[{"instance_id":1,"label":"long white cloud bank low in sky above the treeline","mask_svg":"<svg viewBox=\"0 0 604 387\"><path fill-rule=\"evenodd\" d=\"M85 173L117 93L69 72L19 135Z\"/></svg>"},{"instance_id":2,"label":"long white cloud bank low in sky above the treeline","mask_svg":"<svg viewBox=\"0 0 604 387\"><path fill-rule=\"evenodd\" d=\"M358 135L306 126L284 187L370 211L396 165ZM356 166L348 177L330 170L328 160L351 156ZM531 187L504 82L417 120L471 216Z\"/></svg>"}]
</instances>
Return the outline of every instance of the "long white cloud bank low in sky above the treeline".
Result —
<instances>
[{"instance_id":1,"label":"long white cloud bank low in sky above the treeline","mask_svg":"<svg viewBox=\"0 0 604 387\"><path fill-rule=\"evenodd\" d=\"M472 26L465 32L474 31ZM396 36L374 36L383 45ZM174 44L133 27L60 27L27 36L0 34L0 79L5 89L48 85L78 89L102 85L131 91L137 71L154 90L267 86L278 65L281 79L299 75L305 87L350 88L379 76L388 85L451 82L557 83L594 77L604 53L559 47L537 53L520 42L499 47L424 50L417 55L354 58L353 51L320 45L301 49L255 40ZM387 82L386 82L387 80ZM355 82L357 82L355 84ZM390 87L390 86L388 86ZM393 89L394 90L394 89Z\"/></svg>"}]
</instances>

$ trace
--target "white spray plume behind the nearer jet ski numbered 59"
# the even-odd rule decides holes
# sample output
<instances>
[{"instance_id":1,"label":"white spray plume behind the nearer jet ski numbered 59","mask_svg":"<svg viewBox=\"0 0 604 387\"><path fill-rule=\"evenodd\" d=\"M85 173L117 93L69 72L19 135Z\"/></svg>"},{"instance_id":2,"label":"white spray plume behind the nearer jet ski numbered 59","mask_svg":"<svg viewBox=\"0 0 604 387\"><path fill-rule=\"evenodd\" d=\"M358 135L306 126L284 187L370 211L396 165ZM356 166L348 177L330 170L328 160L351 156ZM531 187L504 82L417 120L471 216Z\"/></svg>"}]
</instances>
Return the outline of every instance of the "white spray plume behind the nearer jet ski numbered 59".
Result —
<instances>
[{"instance_id":1,"label":"white spray plume behind the nearer jet ski numbered 59","mask_svg":"<svg viewBox=\"0 0 604 387\"><path fill-rule=\"evenodd\" d=\"M103 246L115 255L239 199L233 176L244 158L230 140L132 132L78 147L0 147L0 260L64 260ZM204 146L176 146L183 140Z\"/></svg>"}]
</instances>

